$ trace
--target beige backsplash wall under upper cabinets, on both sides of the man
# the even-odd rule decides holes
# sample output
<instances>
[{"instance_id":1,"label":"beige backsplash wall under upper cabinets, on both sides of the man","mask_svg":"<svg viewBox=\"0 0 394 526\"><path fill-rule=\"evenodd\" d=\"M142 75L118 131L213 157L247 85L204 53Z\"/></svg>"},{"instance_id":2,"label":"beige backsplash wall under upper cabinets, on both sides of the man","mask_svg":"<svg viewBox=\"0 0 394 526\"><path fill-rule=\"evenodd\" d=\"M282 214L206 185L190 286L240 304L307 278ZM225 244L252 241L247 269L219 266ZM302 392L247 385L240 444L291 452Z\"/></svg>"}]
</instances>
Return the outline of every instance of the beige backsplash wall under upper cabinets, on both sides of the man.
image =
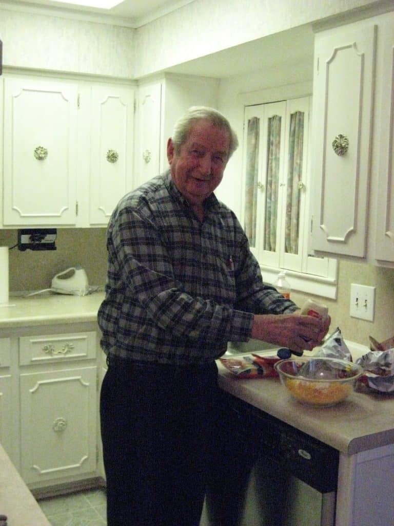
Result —
<instances>
[{"instance_id":1,"label":"beige backsplash wall under upper cabinets, on both sides of the man","mask_svg":"<svg viewBox=\"0 0 394 526\"><path fill-rule=\"evenodd\" d=\"M17 230L0 230L0 246L17 243ZM19 251L9 254L9 290L40 290L50 287L55 274L76 264L87 273L89 285L103 286L106 279L107 250L105 228L66 228L57 230L57 250ZM351 318L350 284L376 287L374 322ZM302 305L307 297L293 291L292 299ZM316 297L329 307L330 330L339 327L347 340L368 345L368 336L385 340L394 335L394 269L351 261L339 261L338 298Z\"/></svg>"}]
</instances>

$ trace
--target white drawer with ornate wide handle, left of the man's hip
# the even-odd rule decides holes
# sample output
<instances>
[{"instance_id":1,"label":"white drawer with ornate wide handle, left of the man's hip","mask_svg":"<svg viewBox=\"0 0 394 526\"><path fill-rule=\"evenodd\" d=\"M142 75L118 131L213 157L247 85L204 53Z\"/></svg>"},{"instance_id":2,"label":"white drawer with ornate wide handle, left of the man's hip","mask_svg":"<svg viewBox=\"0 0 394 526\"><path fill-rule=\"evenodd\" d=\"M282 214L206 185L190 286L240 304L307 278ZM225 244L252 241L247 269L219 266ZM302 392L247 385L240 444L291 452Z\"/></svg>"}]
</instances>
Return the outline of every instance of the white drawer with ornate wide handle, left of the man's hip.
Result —
<instances>
[{"instance_id":1,"label":"white drawer with ornate wide handle, left of the man's hip","mask_svg":"<svg viewBox=\"0 0 394 526\"><path fill-rule=\"evenodd\" d=\"M95 357L95 331L19 338L20 365Z\"/></svg>"}]
</instances>

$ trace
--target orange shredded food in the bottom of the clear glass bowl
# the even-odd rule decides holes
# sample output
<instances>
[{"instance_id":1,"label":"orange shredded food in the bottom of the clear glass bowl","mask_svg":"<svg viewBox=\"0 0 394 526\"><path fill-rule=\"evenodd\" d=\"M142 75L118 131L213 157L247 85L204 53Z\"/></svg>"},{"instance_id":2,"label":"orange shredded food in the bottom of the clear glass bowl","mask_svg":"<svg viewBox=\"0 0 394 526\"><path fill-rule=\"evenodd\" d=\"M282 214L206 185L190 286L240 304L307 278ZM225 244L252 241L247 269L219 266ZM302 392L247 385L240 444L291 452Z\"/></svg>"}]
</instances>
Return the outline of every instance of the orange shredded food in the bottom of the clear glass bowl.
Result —
<instances>
[{"instance_id":1,"label":"orange shredded food in the bottom of the clear glass bowl","mask_svg":"<svg viewBox=\"0 0 394 526\"><path fill-rule=\"evenodd\" d=\"M286 386L300 402L326 406L344 400L352 391L351 383L306 382L298 379L285 379Z\"/></svg>"}]
</instances>

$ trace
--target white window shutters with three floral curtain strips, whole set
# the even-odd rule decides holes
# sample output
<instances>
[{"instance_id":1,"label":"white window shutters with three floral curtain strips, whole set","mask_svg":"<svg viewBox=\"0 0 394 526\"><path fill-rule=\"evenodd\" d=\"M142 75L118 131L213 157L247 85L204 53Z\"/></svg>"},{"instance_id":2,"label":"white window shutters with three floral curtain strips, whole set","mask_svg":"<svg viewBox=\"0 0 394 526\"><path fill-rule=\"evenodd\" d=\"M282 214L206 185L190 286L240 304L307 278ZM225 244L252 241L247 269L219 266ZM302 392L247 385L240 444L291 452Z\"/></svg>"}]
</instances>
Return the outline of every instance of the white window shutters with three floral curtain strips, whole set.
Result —
<instances>
[{"instance_id":1,"label":"white window shutters with three floral curtain strips, whole set","mask_svg":"<svg viewBox=\"0 0 394 526\"><path fill-rule=\"evenodd\" d=\"M299 133L302 144L297 159L300 169L292 191L288 188L294 184L288 180L291 164L288 151L291 119L297 115L302 120ZM245 108L244 222L252 250L262 265L302 269L303 236L298 234L304 231L305 225L308 126L309 97ZM286 231L291 228L291 218L286 216L288 191L296 195L297 206L297 239L293 247L286 247ZM291 204L292 200L289 207Z\"/></svg>"}]
</instances>

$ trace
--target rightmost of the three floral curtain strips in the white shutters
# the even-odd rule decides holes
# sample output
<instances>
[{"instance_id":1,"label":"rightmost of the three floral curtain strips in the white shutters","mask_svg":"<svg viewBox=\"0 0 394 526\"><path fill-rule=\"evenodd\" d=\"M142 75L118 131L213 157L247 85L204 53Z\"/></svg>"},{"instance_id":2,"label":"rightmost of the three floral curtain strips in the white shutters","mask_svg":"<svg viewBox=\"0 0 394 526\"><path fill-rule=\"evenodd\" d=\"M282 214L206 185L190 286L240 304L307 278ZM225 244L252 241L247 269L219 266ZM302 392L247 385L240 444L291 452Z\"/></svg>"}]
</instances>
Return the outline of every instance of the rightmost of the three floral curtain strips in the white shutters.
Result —
<instances>
[{"instance_id":1,"label":"rightmost of the three floral curtain strips in the white shutters","mask_svg":"<svg viewBox=\"0 0 394 526\"><path fill-rule=\"evenodd\" d=\"M285 251L298 254L299 239L299 205L300 188L303 170L304 113L295 112L290 118L287 193L286 193L286 227Z\"/></svg>"}]
</instances>

